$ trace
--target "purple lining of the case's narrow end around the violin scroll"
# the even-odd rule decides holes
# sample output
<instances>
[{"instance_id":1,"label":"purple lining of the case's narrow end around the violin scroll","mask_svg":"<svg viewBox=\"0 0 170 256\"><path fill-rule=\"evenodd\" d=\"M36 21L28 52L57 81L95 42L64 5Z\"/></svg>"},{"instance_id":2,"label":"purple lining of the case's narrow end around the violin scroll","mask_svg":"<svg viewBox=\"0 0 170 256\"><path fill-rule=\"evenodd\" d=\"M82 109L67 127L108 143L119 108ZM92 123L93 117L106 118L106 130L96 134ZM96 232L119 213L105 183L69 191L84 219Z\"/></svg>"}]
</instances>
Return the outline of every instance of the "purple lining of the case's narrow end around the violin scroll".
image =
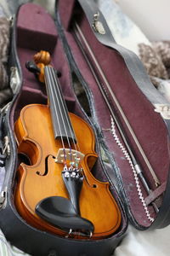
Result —
<instances>
[{"instance_id":1,"label":"purple lining of the case's narrow end around the violin scroll","mask_svg":"<svg viewBox=\"0 0 170 256\"><path fill-rule=\"evenodd\" d=\"M34 17L34 22L32 22L32 17ZM22 33L26 33L26 37L23 37ZM36 34L36 38L33 38L34 34ZM57 31L54 20L51 19L42 7L27 3L20 8L17 19L17 35L17 49L23 74L23 84L20 98L16 103L14 120L18 118L20 109L25 105L29 103L47 102L44 84L38 82L35 76L25 67L26 61L31 61L33 55L35 55L39 49L48 50L51 53L54 67L61 73L66 74L65 76L62 75L59 80L60 84L66 84L66 86L62 86L62 90L64 91L68 108L73 110L75 107L75 99L71 95L70 86L68 86L70 84L69 69L65 62L61 44L56 44ZM30 36L32 37L31 41ZM37 43L39 44L38 47Z\"/></svg>"}]
</instances>

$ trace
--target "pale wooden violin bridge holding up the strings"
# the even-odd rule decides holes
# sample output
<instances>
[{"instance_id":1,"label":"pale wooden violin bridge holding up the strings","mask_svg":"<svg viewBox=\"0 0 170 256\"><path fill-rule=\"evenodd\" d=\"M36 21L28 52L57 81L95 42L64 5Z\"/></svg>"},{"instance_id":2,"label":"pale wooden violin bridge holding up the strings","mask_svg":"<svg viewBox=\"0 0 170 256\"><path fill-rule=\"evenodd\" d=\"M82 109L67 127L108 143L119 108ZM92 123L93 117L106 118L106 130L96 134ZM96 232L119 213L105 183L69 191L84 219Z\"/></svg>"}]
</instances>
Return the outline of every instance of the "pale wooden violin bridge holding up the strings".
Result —
<instances>
[{"instance_id":1,"label":"pale wooden violin bridge holding up the strings","mask_svg":"<svg viewBox=\"0 0 170 256\"><path fill-rule=\"evenodd\" d=\"M59 148L55 162L58 164L63 164L66 160L69 160L71 166L77 167L83 158L84 154L75 149Z\"/></svg>"}]
</instances>

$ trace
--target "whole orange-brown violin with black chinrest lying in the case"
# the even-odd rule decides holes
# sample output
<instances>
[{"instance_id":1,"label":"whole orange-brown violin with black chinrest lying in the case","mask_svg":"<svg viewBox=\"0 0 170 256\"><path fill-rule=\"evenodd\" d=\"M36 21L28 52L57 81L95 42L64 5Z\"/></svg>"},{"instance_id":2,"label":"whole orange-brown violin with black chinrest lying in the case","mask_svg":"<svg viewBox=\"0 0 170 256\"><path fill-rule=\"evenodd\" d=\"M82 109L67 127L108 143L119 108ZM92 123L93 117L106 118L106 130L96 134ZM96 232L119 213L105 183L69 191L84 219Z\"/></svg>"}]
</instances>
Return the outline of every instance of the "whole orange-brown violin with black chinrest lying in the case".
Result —
<instances>
[{"instance_id":1,"label":"whole orange-brown violin with black chinrest lying in the case","mask_svg":"<svg viewBox=\"0 0 170 256\"><path fill-rule=\"evenodd\" d=\"M40 51L26 67L46 84L48 103L21 109L14 125L21 162L14 204L38 230L74 239L102 239L121 224L121 212L109 183L92 174L98 155L94 131L69 113L48 52Z\"/></svg>"}]
</instances>

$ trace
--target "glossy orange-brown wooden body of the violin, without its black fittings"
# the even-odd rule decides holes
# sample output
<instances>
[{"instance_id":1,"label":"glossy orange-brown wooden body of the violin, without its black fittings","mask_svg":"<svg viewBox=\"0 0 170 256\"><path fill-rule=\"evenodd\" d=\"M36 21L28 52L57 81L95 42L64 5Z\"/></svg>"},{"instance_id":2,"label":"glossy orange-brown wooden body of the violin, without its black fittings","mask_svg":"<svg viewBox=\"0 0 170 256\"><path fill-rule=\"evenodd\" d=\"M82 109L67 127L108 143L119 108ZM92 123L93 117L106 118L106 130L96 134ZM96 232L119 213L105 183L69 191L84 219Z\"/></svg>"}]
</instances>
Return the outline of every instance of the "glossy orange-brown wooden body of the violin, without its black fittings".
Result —
<instances>
[{"instance_id":1,"label":"glossy orange-brown wooden body of the violin, without its black fittings","mask_svg":"<svg viewBox=\"0 0 170 256\"><path fill-rule=\"evenodd\" d=\"M92 239L111 236L121 223L121 213L111 195L109 183L99 182L91 172L97 159L94 152L94 132L78 116L73 113L69 113L69 116L77 143L85 155L81 161L86 177L79 200L81 216L94 224ZM54 139L48 105L31 104L23 108L14 125L14 131L19 154L26 155L30 162L29 165L21 163L19 166L14 194L15 206L28 224L39 230L66 236L65 230L49 224L35 212L37 203L44 198L61 196L69 199L61 176L63 164L54 161L62 145L59 139ZM87 239L82 236L75 237Z\"/></svg>"}]
</instances>

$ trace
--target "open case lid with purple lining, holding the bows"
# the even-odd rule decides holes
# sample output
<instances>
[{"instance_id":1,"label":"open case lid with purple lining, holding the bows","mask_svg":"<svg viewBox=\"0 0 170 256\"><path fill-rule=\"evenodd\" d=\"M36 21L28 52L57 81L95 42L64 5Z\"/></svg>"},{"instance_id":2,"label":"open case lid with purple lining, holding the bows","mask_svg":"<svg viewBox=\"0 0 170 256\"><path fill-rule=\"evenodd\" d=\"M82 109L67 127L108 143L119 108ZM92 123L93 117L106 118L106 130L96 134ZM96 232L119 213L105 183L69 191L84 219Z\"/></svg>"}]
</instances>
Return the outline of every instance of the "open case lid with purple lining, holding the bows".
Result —
<instances>
[{"instance_id":1,"label":"open case lid with purple lining, holding the bows","mask_svg":"<svg viewBox=\"0 0 170 256\"><path fill-rule=\"evenodd\" d=\"M140 230L163 228L170 222L170 104L139 57L116 44L99 2L56 1L56 23L128 218Z\"/></svg>"}]
</instances>

